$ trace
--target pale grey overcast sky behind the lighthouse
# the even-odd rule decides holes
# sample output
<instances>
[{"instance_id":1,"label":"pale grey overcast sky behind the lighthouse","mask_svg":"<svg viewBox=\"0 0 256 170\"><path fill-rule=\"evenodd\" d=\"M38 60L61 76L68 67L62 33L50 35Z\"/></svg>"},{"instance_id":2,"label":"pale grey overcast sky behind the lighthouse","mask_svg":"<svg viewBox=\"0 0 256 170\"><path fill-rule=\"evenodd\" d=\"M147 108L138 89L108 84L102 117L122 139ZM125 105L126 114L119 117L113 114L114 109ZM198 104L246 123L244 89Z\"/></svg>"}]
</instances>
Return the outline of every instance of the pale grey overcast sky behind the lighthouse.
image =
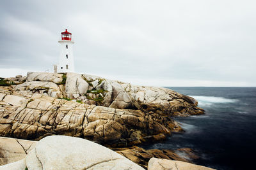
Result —
<instances>
[{"instance_id":1,"label":"pale grey overcast sky behind the lighthouse","mask_svg":"<svg viewBox=\"0 0 256 170\"><path fill-rule=\"evenodd\" d=\"M256 86L256 1L1 1L0 76L52 70L138 85Z\"/></svg>"}]
</instances>

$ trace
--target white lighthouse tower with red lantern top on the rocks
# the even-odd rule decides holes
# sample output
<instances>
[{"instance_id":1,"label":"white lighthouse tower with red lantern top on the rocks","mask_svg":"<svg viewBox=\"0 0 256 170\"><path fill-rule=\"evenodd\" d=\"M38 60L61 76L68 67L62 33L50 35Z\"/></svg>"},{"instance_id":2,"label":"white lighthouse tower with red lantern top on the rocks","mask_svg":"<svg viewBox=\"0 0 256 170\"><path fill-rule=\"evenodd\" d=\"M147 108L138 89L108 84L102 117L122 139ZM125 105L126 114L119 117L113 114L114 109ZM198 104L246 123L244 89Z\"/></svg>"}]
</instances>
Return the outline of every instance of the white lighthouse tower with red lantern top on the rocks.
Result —
<instances>
[{"instance_id":1,"label":"white lighthouse tower with red lantern top on the rocks","mask_svg":"<svg viewBox=\"0 0 256 170\"><path fill-rule=\"evenodd\" d=\"M54 65L54 73L75 72L72 34L66 29L61 32L61 40L58 42L60 43L60 59L59 64Z\"/></svg>"}]
</instances>

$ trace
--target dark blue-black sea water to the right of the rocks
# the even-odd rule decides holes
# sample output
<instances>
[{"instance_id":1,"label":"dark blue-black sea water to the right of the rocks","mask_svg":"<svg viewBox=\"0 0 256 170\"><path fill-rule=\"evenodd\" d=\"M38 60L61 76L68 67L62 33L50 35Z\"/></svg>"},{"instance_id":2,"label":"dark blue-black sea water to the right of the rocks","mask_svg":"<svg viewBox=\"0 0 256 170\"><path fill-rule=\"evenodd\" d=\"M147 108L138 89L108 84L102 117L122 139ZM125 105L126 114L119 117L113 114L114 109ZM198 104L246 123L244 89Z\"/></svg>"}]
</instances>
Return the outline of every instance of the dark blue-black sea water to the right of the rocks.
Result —
<instances>
[{"instance_id":1,"label":"dark blue-black sea water to the right of the rocks","mask_svg":"<svg viewBox=\"0 0 256 170\"><path fill-rule=\"evenodd\" d=\"M168 87L192 96L205 115L175 118L186 130L145 148L193 148L195 163L215 169L256 169L256 87Z\"/></svg>"}]
</instances>

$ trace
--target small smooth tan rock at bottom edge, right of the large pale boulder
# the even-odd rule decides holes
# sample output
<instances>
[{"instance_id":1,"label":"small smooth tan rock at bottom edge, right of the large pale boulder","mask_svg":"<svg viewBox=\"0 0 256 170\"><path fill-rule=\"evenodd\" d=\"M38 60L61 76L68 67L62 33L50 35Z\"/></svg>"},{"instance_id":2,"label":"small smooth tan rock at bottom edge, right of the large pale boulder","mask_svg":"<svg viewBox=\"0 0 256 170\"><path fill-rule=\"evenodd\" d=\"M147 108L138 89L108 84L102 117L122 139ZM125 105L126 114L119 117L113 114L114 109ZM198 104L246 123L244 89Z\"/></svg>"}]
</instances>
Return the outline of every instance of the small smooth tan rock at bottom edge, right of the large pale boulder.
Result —
<instances>
[{"instance_id":1,"label":"small smooth tan rock at bottom edge, right of the large pale boulder","mask_svg":"<svg viewBox=\"0 0 256 170\"><path fill-rule=\"evenodd\" d=\"M188 162L181 162L177 160L157 159L152 158L148 162L148 170L213 170L205 166L197 166Z\"/></svg>"}]
</instances>

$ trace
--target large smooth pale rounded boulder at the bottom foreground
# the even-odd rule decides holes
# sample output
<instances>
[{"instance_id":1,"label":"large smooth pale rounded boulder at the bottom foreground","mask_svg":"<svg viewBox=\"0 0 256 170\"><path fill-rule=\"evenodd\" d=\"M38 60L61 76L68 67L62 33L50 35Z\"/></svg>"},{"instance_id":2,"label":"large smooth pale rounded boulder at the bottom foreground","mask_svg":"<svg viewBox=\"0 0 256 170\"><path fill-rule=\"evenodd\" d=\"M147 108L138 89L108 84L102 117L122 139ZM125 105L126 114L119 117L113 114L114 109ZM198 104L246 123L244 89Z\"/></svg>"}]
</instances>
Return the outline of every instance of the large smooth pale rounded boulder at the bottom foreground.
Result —
<instances>
[{"instance_id":1,"label":"large smooth pale rounded boulder at the bottom foreground","mask_svg":"<svg viewBox=\"0 0 256 170\"><path fill-rule=\"evenodd\" d=\"M25 159L0 169L143 169L122 155L81 138L49 136Z\"/></svg>"}]
</instances>

